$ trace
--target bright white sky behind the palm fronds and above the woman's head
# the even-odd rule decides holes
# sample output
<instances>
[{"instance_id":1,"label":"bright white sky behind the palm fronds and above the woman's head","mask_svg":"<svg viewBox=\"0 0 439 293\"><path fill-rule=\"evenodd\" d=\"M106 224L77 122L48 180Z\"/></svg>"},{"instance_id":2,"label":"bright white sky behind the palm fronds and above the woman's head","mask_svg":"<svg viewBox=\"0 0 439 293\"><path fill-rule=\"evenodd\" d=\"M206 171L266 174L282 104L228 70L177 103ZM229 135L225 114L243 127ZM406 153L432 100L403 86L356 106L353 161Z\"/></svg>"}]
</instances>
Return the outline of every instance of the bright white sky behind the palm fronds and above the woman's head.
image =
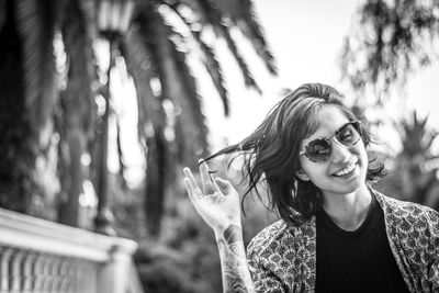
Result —
<instances>
[{"instance_id":1,"label":"bright white sky behind the palm fronds and above the woman's head","mask_svg":"<svg viewBox=\"0 0 439 293\"><path fill-rule=\"evenodd\" d=\"M269 46L277 59L279 76L272 77L264 65L256 56L249 42L237 31L234 37L248 61L250 70L262 88L260 95L244 86L240 71L229 54L224 41L216 41L215 49L225 74L226 87L229 92L229 117L224 117L222 102L215 88L202 67L199 57L192 55L193 74L199 79L199 90L203 97L203 110L210 126L210 142L213 151L226 145L238 143L249 135L268 111L279 101L282 88L294 89L304 82L322 82L334 86L349 95L349 89L340 80L338 65L344 37L349 33L356 18L358 0L255 0L256 14L262 25ZM131 145L126 156L128 178L139 181L144 174L143 155L136 149L135 139L136 116L135 93L126 75L121 70L120 78L112 80L112 92L119 111L125 121L123 140ZM429 125L439 129L439 115L434 113L439 109L439 66L425 68L413 76L407 82L407 99L389 105L384 114L397 116L408 109L417 109L421 115L430 113ZM131 92L130 92L131 91ZM123 97L123 100L117 99ZM131 102L130 102L131 101ZM395 132L383 128L379 135L385 137L393 148L397 149L398 137ZM113 127L113 137L115 136ZM114 142L114 139L112 139ZM110 146L115 149L115 146ZM113 156L115 157L115 156ZM196 159L196 158L194 158ZM113 160L109 168L117 169Z\"/></svg>"}]
</instances>

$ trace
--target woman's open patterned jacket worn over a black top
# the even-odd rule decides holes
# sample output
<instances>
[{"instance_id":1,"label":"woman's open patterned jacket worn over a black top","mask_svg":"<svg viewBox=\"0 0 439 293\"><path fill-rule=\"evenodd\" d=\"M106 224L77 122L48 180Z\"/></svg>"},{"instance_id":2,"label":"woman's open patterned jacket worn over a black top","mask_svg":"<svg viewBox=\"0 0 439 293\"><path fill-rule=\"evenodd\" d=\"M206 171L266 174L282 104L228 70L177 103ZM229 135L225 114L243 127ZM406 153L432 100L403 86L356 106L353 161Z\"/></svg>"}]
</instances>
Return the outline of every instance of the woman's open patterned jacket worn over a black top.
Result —
<instances>
[{"instance_id":1,"label":"woman's open patterned jacket worn over a black top","mask_svg":"<svg viewBox=\"0 0 439 293\"><path fill-rule=\"evenodd\" d=\"M372 192L384 212L396 263L410 292L439 292L439 213ZM314 292L315 216L301 226L282 219L260 232L247 249L257 292Z\"/></svg>"}]
</instances>

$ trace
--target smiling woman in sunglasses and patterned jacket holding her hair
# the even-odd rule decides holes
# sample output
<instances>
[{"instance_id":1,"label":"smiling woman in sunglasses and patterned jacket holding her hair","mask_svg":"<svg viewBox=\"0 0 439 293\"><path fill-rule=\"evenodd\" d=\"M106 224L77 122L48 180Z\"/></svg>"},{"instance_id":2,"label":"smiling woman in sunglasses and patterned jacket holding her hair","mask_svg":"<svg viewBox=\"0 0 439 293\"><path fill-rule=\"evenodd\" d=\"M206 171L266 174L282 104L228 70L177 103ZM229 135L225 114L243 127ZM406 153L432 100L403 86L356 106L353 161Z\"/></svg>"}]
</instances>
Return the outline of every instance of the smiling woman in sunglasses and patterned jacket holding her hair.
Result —
<instances>
[{"instance_id":1,"label":"smiling woman in sunglasses and patterned jacket holding her hair","mask_svg":"<svg viewBox=\"0 0 439 293\"><path fill-rule=\"evenodd\" d=\"M195 209L213 228L225 292L439 292L439 214L370 188L369 135L334 88L303 84L240 144L247 191L268 185L281 219L243 244L239 195L200 164L184 169ZM207 158L207 159L210 159Z\"/></svg>"}]
</instances>

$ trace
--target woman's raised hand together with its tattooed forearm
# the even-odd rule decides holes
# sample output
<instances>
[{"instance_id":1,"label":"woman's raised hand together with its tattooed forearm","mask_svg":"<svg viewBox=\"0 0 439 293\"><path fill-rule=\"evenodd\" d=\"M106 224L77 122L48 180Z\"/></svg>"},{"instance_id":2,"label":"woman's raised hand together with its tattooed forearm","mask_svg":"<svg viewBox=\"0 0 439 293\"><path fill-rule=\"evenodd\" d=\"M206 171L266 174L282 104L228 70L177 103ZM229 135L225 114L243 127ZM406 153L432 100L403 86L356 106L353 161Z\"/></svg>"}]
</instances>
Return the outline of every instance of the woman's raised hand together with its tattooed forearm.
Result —
<instances>
[{"instance_id":1,"label":"woman's raised hand together with its tattooed forearm","mask_svg":"<svg viewBox=\"0 0 439 293\"><path fill-rule=\"evenodd\" d=\"M189 198L215 232L223 292L255 292L243 241L238 192L230 182L213 178L205 161L200 165L201 188L189 168L183 172Z\"/></svg>"}]
</instances>

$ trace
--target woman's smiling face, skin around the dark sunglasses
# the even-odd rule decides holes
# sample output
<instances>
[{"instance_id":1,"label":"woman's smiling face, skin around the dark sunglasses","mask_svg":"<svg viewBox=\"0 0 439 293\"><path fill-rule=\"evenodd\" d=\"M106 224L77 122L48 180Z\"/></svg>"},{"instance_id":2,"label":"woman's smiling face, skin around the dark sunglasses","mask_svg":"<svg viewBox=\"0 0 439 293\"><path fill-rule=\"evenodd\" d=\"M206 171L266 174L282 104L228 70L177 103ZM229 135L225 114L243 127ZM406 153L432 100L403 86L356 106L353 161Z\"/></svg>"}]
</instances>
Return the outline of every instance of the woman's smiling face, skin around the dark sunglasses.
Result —
<instances>
[{"instance_id":1,"label":"woman's smiling face, skin around the dark sunglasses","mask_svg":"<svg viewBox=\"0 0 439 293\"><path fill-rule=\"evenodd\" d=\"M307 138L301 142L301 150L320 137L334 134L349 122L346 114L336 105L325 105L318 112L319 126ZM302 169L297 176L302 180L311 180L323 192L324 196L347 194L357 191L365 182L368 154L362 139L352 146L346 146L329 137L331 151L326 161L312 161L300 155Z\"/></svg>"}]
</instances>

